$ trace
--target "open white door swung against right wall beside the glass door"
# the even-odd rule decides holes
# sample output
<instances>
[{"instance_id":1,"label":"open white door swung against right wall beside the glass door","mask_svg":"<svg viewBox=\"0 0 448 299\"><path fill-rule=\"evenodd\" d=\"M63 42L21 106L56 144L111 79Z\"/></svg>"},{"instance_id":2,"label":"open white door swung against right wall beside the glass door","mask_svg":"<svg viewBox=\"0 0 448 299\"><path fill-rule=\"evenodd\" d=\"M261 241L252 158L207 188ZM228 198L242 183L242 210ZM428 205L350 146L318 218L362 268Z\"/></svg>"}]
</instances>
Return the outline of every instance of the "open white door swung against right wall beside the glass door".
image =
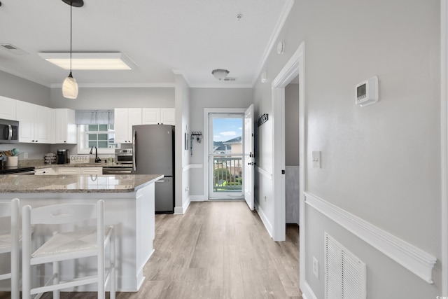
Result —
<instances>
[{"instance_id":1,"label":"open white door swung against right wall beside the glass door","mask_svg":"<svg viewBox=\"0 0 448 299\"><path fill-rule=\"evenodd\" d=\"M253 144L253 104L244 113L244 200L251 210L254 208L253 167L255 165Z\"/></svg>"}]
</instances>

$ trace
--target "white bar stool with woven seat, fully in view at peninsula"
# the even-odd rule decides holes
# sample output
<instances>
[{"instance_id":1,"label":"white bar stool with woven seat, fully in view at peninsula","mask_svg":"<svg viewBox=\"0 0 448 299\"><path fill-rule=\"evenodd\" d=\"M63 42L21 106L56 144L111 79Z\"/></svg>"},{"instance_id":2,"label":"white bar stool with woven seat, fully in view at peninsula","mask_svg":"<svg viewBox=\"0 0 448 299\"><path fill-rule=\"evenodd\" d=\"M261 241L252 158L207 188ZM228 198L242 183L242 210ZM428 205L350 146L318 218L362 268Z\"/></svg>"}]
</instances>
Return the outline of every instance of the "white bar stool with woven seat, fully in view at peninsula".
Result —
<instances>
[{"instance_id":1,"label":"white bar stool with woven seat, fully in view at peninsula","mask_svg":"<svg viewBox=\"0 0 448 299\"><path fill-rule=\"evenodd\" d=\"M85 227L85 221L96 218L96 227ZM34 235L38 235L38 225L76 224L76 229L55 232L37 249L31 249ZM31 225L34 234L31 239ZM84 226L84 227L83 227ZM64 226L66 227L66 225ZM59 298L59 291L84 284L97 284L98 298L105 298L106 285L110 287L110 298L116 295L115 273L115 232L113 226L104 228L104 201L97 204L54 204L47 207L22 209L22 298L31 295L53 292L53 298ZM104 251L109 245L109 271L105 275ZM75 277L62 281L59 274L59 262L97 256L97 274L87 277ZM52 263L53 274L43 286L32 288L31 266ZM33 281L34 282L34 281ZM36 283L36 282L34 282Z\"/></svg>"}]
</instances>

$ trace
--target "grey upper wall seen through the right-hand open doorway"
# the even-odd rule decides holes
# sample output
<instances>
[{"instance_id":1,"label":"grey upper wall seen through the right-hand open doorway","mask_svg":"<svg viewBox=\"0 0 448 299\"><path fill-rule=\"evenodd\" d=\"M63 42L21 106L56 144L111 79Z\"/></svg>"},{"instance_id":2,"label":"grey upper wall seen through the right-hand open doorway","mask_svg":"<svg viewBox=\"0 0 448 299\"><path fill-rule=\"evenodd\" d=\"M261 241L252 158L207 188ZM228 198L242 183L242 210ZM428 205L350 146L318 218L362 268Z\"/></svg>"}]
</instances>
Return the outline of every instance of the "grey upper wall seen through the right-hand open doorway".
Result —
<instances>
[{"instance_id":1,"label":"grey upper wall seen through the right-hand open doorway","mask_svg":"<svg viewBox=\"0 0 448 299\"><path fill-rule=\"evenodd\" d=\"M287 166L299 166L298 84L289 84L285 88L285 163Z\"/></svg>"}]
</instances>

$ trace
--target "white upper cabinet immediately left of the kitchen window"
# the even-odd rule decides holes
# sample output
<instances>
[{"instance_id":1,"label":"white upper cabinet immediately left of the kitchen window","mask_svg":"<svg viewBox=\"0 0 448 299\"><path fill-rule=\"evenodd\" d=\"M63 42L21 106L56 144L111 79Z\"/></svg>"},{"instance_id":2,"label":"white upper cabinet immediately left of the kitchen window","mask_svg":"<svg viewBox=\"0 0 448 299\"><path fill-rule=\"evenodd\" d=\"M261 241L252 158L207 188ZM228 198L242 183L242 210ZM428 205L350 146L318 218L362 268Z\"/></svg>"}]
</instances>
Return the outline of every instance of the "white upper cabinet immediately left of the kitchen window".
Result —
<instances>
[{"instance_id":1,"label":"white upper cabinet immediately left of the kitchen window","mask_svg":"<svg viewBox=\"0 0 448 299\"><path fill-rule=\"evenodd\" d=\"M75 111L71 109L55 110L55 144L76 144Z\"/></svg>"}]
</instances>

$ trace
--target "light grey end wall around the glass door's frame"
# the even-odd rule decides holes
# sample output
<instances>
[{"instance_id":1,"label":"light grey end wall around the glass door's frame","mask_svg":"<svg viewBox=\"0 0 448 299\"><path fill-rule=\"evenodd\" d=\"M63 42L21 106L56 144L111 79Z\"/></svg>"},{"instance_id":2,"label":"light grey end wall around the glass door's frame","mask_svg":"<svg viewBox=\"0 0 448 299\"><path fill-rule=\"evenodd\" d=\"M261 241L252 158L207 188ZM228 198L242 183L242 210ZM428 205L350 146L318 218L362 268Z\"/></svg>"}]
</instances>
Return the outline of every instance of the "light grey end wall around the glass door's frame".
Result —
<instances>
[{"instance_id":1,"label":"light grey end wall around the glass door's frame","mask_svg":"<svg viewBox=\"0 0 448 299\"><path fill-rule=\"evenodd\" d=\"M188 130L204 133L205 108L248 108L253 103L251 88L191 88L190 89L190 125ZM204 155L207 148L204 141L193 141L193 155L190 163L198 166L190 169L190 195L197 200L208 199L204 194Z\"/></svg>"}]
</instances>

